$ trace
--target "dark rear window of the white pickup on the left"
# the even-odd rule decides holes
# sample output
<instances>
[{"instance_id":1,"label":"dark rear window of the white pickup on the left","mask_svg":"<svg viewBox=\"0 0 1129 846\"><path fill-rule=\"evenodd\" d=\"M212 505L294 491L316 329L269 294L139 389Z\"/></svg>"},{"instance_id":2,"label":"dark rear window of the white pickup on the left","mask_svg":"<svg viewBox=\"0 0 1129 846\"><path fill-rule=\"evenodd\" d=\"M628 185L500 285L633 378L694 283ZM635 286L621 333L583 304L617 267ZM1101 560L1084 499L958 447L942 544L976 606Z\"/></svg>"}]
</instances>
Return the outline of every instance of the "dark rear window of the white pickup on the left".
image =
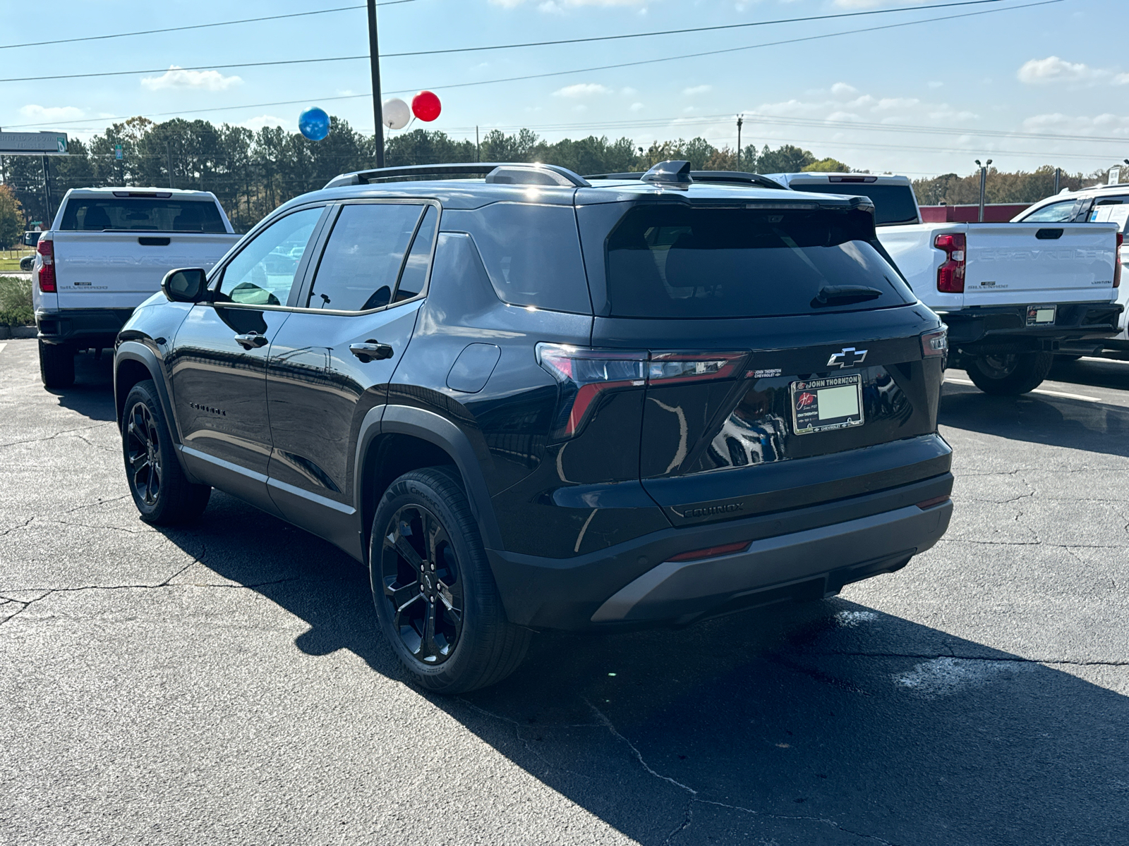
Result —
<instances>
[{"instance_id":1,"label":"dark rear window of the white pickup on the left","mask_svg":"<svg viewBox=\"0 0 1129 846\"><path fill-rule=\"evenodd\" d=\"M226 232L216 203L209 200L152 197L72 197L60 229L100 232Z\"/></svg>"}]
</instances>

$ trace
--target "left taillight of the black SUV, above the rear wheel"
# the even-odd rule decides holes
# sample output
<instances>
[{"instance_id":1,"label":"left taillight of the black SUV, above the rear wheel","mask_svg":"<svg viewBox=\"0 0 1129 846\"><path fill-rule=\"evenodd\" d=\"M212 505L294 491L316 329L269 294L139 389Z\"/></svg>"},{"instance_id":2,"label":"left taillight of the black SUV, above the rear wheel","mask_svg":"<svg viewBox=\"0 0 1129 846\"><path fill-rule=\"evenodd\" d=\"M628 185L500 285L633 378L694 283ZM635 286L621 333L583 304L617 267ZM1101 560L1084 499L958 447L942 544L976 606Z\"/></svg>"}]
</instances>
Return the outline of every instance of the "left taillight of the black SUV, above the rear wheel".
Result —
<instances>
[{"instance_id":1,"label":"left taillight of the black SUV, above the rear wheel","mask_svg":"<svg viewBox=\"0 0 1129 846\"><path fill-rule=\"evenodd\" d=\"M537 344L537 363L561 387L553 418L553 439L572 438L583 428L596 398L605 390L645 385L726 379L737 372L747 353L649 352L598 350L563 344Z\"/></svg>"}]
</instances>

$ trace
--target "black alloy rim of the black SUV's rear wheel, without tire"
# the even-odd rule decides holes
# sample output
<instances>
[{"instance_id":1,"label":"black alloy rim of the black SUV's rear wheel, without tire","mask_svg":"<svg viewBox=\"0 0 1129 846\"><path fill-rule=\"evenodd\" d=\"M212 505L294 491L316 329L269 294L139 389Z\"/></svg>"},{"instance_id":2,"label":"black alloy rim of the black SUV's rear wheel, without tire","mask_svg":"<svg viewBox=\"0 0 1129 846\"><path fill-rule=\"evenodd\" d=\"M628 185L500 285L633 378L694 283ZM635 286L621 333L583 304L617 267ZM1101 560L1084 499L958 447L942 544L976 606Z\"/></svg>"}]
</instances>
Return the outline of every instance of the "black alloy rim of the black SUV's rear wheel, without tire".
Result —
<instances>
[{"instance_id":1,"label":"black alloy rim of the black SUV's rear wheel, without tire","mask_svg":"<svg viewBox=\"0 0 1129 846\"><path fill-rule=\"evenodd\" d=\"M463 581L458 559L438 518L405 505L387 523L380 552L384 597L392 626L425 664L450 658L463 631Z\"/></svg>"}]
</instances>

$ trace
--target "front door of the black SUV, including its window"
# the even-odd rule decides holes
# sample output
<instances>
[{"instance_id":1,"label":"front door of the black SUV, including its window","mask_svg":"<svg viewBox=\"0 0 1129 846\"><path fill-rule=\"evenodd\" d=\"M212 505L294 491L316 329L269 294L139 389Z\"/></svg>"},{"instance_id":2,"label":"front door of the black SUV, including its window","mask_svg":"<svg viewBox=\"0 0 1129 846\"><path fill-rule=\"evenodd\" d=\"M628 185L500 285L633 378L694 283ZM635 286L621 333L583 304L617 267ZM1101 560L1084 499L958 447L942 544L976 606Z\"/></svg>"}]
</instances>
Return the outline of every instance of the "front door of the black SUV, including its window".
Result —
<instances>
[{"instance_id":1,"label":"front door of the black SUV, including its window","mask_svg":"<svg viewBox=\"0 0 1129 846\"><path fill-rule=\"evenodd\" d=\"M270 510L266 411L270 342L290 318L305 252L324 208L272 223L221 270L212 301L193 306L169 355L183 455L201 481Z\"/></svg>"}]
</instances>

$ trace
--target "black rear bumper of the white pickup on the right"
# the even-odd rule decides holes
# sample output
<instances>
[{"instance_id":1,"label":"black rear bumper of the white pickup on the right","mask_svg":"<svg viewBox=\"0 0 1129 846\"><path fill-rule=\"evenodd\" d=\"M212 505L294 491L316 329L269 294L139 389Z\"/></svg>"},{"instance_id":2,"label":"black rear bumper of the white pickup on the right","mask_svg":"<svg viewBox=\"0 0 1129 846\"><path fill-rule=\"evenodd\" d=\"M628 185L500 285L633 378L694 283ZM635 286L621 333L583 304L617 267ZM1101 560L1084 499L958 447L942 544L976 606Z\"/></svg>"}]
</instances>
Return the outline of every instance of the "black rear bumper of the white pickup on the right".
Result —
<instances>
[{"instance_id":1,"label":"black rear bumper of the white pickup on the right","mask_svg":"<svg viewBox=\"0 0 1129 846\"><path fill-rule=\"evenodd\" d=\"M1117 302L1054 305L1053 324L1027 325L1027 306L984 306L940 314L948 326L948 345L968 354L1053 351L1062 342L1111 337L1118 333L1121 305Z\"/></svg>"}]
</instances>

